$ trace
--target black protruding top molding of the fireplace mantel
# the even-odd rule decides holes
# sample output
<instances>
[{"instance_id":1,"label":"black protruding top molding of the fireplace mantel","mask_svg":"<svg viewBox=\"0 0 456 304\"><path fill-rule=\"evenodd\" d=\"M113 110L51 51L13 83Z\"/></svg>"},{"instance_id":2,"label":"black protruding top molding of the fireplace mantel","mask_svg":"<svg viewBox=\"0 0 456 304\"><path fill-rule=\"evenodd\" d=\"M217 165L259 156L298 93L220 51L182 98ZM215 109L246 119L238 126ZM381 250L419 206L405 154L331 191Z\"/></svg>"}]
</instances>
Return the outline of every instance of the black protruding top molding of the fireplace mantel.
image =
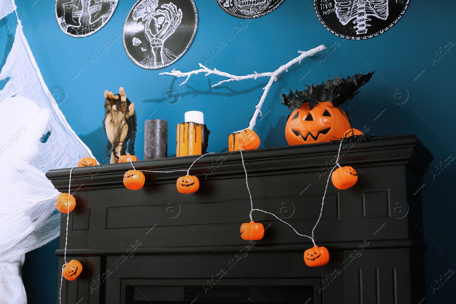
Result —
<instances>
[{"instance_id":1,"label":"black protruding top molding of the fireplace mantel","mask_svg":"<svg viewBox=\"0 0 456 304\"><path fill-rule=\"evenodd\" d=\"M244 162L252 175L269 175L280 171L281 174L290 172L321 170L328 165L339 149L340 141L320 144L303 144L277 148L264 148L243 151ZM171 157L157 160L134 162L137 170L172 171L187 170L200 155ZM295 162L290 162L294 159ZM341 165L357 165L358 167L376 165L407 164L419 176L423 176L434 159L430 150L416 137L415 134L368 137L357 140L345 139L341 149ZM212 165L217 170L211 174L211 179L222 175L243 175L244 169L239 166L240 152L220 152L203 156L192 166L191 175L207 175ZM286 160L286 161L284 161ZM297 165L290 165L297 164ZM73 168L71 189L74 191L83 185L84 189L123 187L122 178L130 163L108 164L89 167ZM185 172L150 173L145 172L147 181L167 183L184 175ZM46 177L52 181L57 190L68 191L70 168L49 170Z\"/></svg>"}]
</instances>

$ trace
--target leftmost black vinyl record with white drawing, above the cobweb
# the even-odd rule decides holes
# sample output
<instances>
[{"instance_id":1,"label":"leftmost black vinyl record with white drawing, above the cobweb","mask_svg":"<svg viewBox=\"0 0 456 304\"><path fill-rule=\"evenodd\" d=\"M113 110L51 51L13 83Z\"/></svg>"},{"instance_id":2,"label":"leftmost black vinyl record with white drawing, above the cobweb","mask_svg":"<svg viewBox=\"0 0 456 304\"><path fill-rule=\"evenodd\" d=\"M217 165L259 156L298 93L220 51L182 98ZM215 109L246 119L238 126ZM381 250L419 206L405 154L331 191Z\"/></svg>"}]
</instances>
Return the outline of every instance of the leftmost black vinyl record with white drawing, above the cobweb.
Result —
<instances>
[{"instance_id":1,"label":"leftmost black vinyl record with white drawing, above the cobweb","mask_svg":"<svg viewBox=\"0 0 456 304\"><path fill-rule=\"evenodd\" d=\"M101 29L119 0L56 0L56 19L60 29L72 37L87 37Z\"/></svg>"}]
</instances>

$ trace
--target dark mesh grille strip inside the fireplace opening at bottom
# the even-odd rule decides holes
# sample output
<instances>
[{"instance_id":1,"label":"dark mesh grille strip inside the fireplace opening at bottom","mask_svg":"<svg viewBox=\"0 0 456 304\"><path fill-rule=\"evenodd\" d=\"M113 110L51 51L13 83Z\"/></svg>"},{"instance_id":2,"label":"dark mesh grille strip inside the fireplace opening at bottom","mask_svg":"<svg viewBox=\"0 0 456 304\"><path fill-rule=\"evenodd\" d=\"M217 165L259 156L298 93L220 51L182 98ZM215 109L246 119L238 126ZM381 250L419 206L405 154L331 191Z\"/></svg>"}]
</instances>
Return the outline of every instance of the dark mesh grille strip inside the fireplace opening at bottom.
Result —
<instances>
[{"instance_id":1,"label":"dark mesh grille strip inside the fireplace opening at bottom","mask_svg":"<svg viewBox=\"0 0 456 304\"><path fill-rule=\"evenodd\" d=\"M134 286L132 291L131 304L315 303L314 286Z\"/></svg>"}]
</instances>

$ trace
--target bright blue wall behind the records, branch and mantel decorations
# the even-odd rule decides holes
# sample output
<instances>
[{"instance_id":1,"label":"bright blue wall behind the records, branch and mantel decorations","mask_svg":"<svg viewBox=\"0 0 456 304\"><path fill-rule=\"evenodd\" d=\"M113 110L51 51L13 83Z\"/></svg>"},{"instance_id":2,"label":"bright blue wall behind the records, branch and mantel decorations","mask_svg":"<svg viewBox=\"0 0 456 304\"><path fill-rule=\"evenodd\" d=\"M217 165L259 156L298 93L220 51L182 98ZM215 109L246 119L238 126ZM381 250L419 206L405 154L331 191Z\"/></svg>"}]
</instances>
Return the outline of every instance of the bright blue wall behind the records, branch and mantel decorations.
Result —
<instances>
[{"instance_id":1,"label":"bright blue wall behind the records, branch and mantel decorations","mask_svg":"<svg viewBox=\"0 0 456 304\"><path fill-rule=\"evenodd\" d=\"M280 104L280 93L326 81L328 74L336 77L340 73L347 76L360 70L377 70L347 109L355 128L368 126L374 135L415 133L434 154L435 160L423 177L425 186L420 190L428 245L425 254L426 301L439 303L452 299L451 286L455 285L456 278L448 279L434 293L431 284L449 268L456 269L453 263L456 247L451 237L456 232L453 217L456 207L448 191L454 187L456 164L451 162L439 175L436 175L439 171L433 170L440 161L448 159L448 155L456 155L452 129L456 107L451 95L456 50L452 47L450 51L442 52L441 59L435 61L439 58L435 52L440 52L440 47L443 49L449 41L456 41L455 1L439 1L436 5L431 0L412 0L404 16L390 30L368 40L351 41L334 36L321 25L310 5L311 0L286 0L272 13L247 23L225 13L215 0L196 0L199 26L192 46L170 67L154 71L135 66L124 52L122 40L115 36L116 33L120 36L125 16L134 1L120 1L107 25L86 38L72 38L59 29L54 1L34 2L16 0L19 14L26 14L22 23L31 50L48 88L61 91L60 96L57 91L53 93L56 93L68 123L100 162L104 161L107 140L101 127L105 89L117 92L123 86L127 97L135 103L141 127L135 151L142 159L144 121L168 121L168 155L173 156L176 147L174 128L189 110L205 113L205 122L212 134L208 150L224 150L228 146L227 135L248 126L267 82L267 79L259 78L210 88L210 84L223 78L199 74L179 86L183 79L174 82L173 77L159 75L160 72L173 68L184 72L194 70L199 62L237 75L269 72L298 56L298 50L320 44L328 48L333 46L334 50L334 45L340 44L334 52L327 52L326 57L319 54L292 67L273 85L263 106L263 113L267 115L258 120L255 130L262 139L262 148L286 145L283 129L288 111ZM8 18L10 23L15 16ZM228 41L225 35L237 26L241 30ZM6 25L0 28L3 31ZM213 58L207 57L207 52L223 40L227 45L214 53ZM113 45L93 62L93 52L107 41ZM0 47L7 49L7 43L8 39L5 39ZM180 96L178 101L166 98L169 88ZM438 105L440 102L443 102L442 107ZM57 248L57 242L54 247ZM50 257L47 263L57 272L53 259ZM52 284L54 282L56 278L52 278ZM52 300L38 303L54 302L55 289L46 290Z\"/></svg>"}]
</instances>

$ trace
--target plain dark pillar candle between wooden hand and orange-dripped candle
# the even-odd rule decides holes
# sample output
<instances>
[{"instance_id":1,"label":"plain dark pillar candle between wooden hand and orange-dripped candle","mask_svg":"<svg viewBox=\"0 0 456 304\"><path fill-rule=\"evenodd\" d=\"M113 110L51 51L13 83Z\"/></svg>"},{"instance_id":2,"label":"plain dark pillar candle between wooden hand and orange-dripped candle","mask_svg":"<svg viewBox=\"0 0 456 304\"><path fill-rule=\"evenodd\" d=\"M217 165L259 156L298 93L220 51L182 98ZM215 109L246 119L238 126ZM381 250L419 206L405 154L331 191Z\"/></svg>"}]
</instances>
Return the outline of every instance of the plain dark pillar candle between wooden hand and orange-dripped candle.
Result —
<instances>
[{"instance_id":1,"label":"plain dark pillar candle between wooden hand and orange-dripped candle","mask_svg":"<svg viewBox=\"0 0 456 304\"><path fill-rule=\"evenodd\" d=\"M168 122L150 119L144 123L144 160L166 158L168 155Z\"/></svg>"}]
</instances>

